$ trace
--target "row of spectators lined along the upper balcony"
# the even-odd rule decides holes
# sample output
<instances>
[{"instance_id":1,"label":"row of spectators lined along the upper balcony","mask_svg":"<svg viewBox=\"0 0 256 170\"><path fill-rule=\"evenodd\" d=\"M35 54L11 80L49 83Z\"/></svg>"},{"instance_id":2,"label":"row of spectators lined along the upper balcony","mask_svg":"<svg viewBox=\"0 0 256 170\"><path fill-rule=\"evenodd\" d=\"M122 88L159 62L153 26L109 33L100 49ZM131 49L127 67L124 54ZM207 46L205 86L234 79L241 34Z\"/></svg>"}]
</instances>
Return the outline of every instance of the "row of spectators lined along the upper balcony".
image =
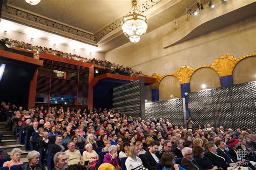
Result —
<instances>
[{"instance_id":1,"label":"row of spectators lined along the upper balcony","mask_svg":"<svg viewBox=\"0 0 256 170\"><path fill-rule=\"evenodd\" d=\"M136 70L132 70L130 67L124 67L122 65L118 65L116 63L112 63L107 60L100 60L100 59L91 59L91 58L85 58L83 56L77 55L77 54L71 54L71 53L65 53L62 51L58 51L56 49L52 48L46 48L42 46L33 46L29 43L18 41L18 40L12 40L8 38L1 39L2 42L4 42L9 47L18 47L18 48L24 48L35 52L42 52L42 53L48 53L56 56L60 56L62 58L66 59L72 59L77 60L81 62L88 62L92 63L93 65L103 66L106 68L109 68L112 70L112 73L127 75L127 76L134 76L134 75L142 75L142 72L136 72ZM38 53L35 54L35 58L39 59Z\"/></svg>"}]
</instances>

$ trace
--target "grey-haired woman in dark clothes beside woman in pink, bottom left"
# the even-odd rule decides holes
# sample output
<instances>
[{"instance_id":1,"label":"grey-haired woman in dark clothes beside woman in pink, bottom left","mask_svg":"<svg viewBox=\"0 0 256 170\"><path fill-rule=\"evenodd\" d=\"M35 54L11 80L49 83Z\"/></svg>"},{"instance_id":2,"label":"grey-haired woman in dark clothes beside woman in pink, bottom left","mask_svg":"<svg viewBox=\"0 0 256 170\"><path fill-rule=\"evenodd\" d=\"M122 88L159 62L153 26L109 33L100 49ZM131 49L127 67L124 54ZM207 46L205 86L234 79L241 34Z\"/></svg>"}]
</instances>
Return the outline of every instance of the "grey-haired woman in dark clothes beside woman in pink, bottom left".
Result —
<instances>
[{"instance_id":1,"label":"grey-haired woman in dark clothes beside woman in pink, bottom left","mask_svg":"<svg viewBox=\"0 0 256 170\"><path fill-rule=\"evenodd\" d=\"M28 158L29 163L22 166L21 169L23 169L23 170L29 170L29 169L45 170L44 165L39 164L39 158L40 158L40 153L39 152L31 151L31 152L28 153L26 158Z\"/></svg>"}]
</instances>

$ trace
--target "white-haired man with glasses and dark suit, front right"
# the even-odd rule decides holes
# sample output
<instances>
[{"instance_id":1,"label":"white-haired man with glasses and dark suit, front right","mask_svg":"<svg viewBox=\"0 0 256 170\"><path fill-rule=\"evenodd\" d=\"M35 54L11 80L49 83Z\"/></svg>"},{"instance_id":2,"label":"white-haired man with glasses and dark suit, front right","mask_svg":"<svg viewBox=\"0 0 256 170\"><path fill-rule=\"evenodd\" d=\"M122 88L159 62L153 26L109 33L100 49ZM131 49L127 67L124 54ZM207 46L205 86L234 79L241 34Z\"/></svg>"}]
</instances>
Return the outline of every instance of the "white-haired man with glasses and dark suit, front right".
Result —
<instances>
[{"instance_id":1,"label":"white-haired man with glasses and dark suit, front right","mask_svg":"<svg viewBox=\"0 0 256 170\"><path fill-rule=\"evenodd\" d=\"M201 168L198 165L198 162L196 160L194 160L194 155L192 152L192 148L190 147L184 147L182 150L182 154L183 154L183 159L181 160L181 166L186 168L186 169L190 169L190 170L203 170L203 168Z\"/></svg>"}]
</instances>

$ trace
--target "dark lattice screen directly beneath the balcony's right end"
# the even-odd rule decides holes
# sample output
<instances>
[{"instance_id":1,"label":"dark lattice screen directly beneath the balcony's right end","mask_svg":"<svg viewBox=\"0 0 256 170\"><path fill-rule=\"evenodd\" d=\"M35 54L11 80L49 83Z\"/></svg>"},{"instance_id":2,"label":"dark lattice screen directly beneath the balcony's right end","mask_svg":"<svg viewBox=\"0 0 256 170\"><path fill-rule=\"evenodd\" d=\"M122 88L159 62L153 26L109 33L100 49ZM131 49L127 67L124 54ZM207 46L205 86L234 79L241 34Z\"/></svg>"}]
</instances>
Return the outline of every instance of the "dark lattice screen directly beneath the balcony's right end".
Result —
<instances>
[{"instance_id":1,"label":"dark lattice screen directly beneath the balcony's right end","mask_svg":"<svg viewBox=\"0 0 256 170\"><path fill-rule=\"evenodd\" d=\"M135 118L145 115L144 80L113 88L113 108Z\"/></svg>"}]
</instances>

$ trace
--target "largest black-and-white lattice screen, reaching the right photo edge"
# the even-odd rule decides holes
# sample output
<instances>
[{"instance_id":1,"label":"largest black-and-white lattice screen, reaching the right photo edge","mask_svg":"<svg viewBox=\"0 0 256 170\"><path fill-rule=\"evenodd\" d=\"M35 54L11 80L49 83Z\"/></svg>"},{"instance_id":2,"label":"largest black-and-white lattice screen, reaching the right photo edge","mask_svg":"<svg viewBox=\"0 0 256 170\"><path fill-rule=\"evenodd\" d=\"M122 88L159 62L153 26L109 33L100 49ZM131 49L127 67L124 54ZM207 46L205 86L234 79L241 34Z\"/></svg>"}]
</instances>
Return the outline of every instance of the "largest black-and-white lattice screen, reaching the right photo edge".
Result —
<instances>
[{"instance_id":1,"label":"largest black-and-white lattice screen, reaching the right photo edge","mask_svg":"<svg viewBox=\"0 0 256 170\"><path fill-rule=\"evenodd\" d=\"M194 126L256 129L256 81L188 94Z\"/></svg>"}]
</instances>

